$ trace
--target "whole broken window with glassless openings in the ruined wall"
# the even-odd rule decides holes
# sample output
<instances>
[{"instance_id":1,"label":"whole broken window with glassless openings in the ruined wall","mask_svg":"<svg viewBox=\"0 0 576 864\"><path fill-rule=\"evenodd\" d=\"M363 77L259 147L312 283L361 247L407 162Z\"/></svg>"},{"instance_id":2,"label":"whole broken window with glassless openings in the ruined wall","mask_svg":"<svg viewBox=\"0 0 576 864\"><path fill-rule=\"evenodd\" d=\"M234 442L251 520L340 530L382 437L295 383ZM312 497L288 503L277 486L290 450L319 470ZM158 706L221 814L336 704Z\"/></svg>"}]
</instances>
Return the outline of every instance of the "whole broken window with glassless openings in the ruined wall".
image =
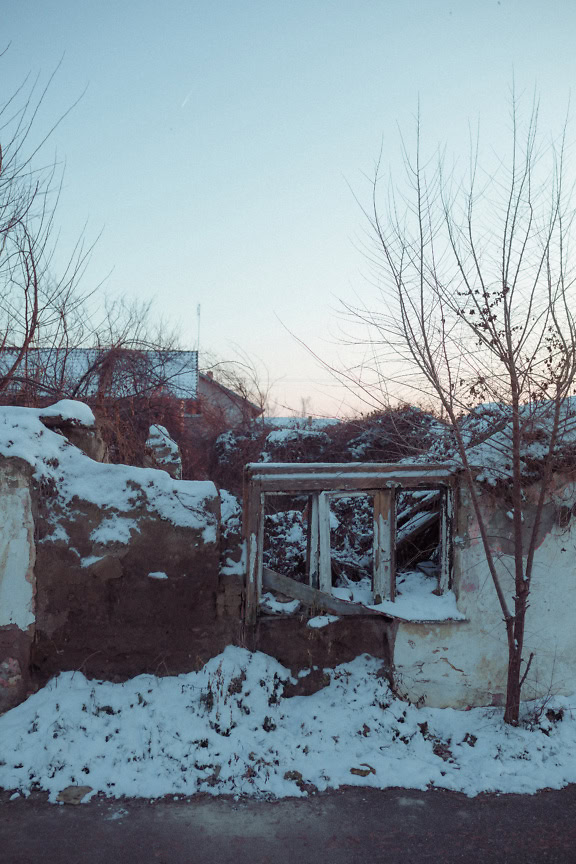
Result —
<instances>
[{"instance_id":1,"label":"whole broken window with glassless openings in the ruined wall","mask_svg":"<svg viewBox=\"0 0 576 864\"><path fill-rule=\"evenodd\" d=\"M335 614L353 614L345 607L358 605L377 613L373 607L384 601L444 593L450 586L453 480L442 465L247 466L248 619L255 619L263 589ZM270 502L282 495L298 507L281 510L272 503L271 513ZM270 566L274 520L292 520L289 536L300 538L300 552L291 553L297 559L293 572Z\"/></svg>"}]
</instances>

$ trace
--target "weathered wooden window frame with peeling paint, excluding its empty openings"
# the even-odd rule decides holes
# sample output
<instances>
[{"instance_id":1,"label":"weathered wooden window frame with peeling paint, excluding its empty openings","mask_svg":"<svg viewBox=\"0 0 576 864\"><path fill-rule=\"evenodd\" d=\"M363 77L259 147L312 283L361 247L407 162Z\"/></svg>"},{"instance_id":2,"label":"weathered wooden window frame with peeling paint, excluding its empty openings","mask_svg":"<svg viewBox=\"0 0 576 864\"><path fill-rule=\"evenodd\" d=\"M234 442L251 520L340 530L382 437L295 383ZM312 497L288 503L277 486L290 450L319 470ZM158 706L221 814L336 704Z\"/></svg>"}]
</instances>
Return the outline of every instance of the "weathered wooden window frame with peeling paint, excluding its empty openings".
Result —
<instances>
[{"instance_id":1,"label":"weathered wooden window frame with peeling paint, excluding its empty openings","mask_svg":"<svg viewBox=\"0 0 576 864\"><path fill-rule=\"evenodd\" d=\"M244 472L243 539L246 562L245 618L257 620L263 577L278 590L289 586L292 596L337 614L382 614L345 600L328 601L332 589L330 557L330 501L351 495L374 499L373 603L396 596L396 493L403 489L438 490L441 495L440 593L451 585L452 522L458 469L442 463L251 463ZM309 520L306 570L308 584L263 567L266 495L308 495ZM388 613L386 613L388 614ZM391 615L390 617L394 617Z\"/></svg>"}]
</instances>

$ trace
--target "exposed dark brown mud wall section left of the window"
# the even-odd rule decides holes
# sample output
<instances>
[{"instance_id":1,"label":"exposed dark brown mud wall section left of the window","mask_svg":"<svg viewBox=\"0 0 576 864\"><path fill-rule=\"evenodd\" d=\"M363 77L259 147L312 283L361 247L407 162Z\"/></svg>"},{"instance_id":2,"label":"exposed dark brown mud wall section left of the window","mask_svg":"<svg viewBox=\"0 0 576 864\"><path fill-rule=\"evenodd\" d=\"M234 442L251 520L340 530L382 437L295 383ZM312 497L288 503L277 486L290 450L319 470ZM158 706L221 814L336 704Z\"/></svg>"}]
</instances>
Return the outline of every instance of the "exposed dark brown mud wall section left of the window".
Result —
<instances>
[{"instance_id":1,"label":"exposed dark brown mud wall section left of the window","mask_svg":"<svg viewBox=\"0 0 576 864\"><path fill-rule=\"evenodd\" d=\"M177 674L233 641L239 618L216 615L215 488L208 506L208 537L206 526L174 525L143 506L111 514L87 501L60 514L57 530L50 524L36 560L39 679L62 669L111 680Z\"/></svg>"}]
</instances>

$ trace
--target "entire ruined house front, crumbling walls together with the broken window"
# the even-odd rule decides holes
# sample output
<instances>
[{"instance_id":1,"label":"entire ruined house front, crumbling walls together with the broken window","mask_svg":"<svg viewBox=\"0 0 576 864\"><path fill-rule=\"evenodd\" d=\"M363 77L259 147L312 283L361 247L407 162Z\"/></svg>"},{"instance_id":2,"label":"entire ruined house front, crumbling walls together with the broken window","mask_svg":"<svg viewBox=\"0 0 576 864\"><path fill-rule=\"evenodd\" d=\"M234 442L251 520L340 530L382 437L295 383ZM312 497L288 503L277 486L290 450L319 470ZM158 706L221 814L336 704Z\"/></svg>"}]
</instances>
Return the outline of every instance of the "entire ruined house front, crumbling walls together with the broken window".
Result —
<instances>
[{"instance_id":1,"label":"entire ruined house front, crumbling walls together with the broken window","mask_svg":"<svg viewBox=\"0 0 576 864\"><path fill-rule=\"evenodd\" d=\"M212 482L90 458L86 405L0 413L0 711L60 670L176 674L227 644L312 670L295 692L366 652L412 702L503 700L502 614L455 464L250 465L242 537L239 506ZM332 554L343 501L371 514L359 578L344 578ZM573 476L558 473L533 577L526 698L576 688L575 502ZM501 493L486 484L481 506L511 591ZM268 566L266 513L295 507L305 566L281 572ZM528 492L527 528L531 508Z\"/></svg>"}]
</instances>

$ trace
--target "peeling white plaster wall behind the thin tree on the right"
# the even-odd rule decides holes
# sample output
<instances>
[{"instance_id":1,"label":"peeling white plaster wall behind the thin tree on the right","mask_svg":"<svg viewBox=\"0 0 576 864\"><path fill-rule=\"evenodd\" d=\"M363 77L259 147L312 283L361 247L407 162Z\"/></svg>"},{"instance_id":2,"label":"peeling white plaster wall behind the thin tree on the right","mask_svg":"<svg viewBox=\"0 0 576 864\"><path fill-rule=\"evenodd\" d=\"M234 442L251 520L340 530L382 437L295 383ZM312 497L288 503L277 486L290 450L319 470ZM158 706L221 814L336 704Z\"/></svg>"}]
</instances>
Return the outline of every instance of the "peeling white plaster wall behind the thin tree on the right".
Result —
<instances>
[{"instance_id":1,"label":"peeling white plaster wall behind the thin tree on the right","mask_svg":"<svg viewBox=\"0 0 576 864\"><path fill-rule=\"evenodd\" d=\"M531 527L536 489L525 507ZM546 502L526 618L524 656L534 652L523 698L576 690L576 527L566 512L576 485L557 477ZM487 492L482 509L502 585L513 610L512 522L502 496ZM466 622L398 626L397 686L411 701L433 707L500 705L505 700L508 648L502 611L466 489L460 490L454 530L454 591Z\"/></svg>"}]
</instances>

